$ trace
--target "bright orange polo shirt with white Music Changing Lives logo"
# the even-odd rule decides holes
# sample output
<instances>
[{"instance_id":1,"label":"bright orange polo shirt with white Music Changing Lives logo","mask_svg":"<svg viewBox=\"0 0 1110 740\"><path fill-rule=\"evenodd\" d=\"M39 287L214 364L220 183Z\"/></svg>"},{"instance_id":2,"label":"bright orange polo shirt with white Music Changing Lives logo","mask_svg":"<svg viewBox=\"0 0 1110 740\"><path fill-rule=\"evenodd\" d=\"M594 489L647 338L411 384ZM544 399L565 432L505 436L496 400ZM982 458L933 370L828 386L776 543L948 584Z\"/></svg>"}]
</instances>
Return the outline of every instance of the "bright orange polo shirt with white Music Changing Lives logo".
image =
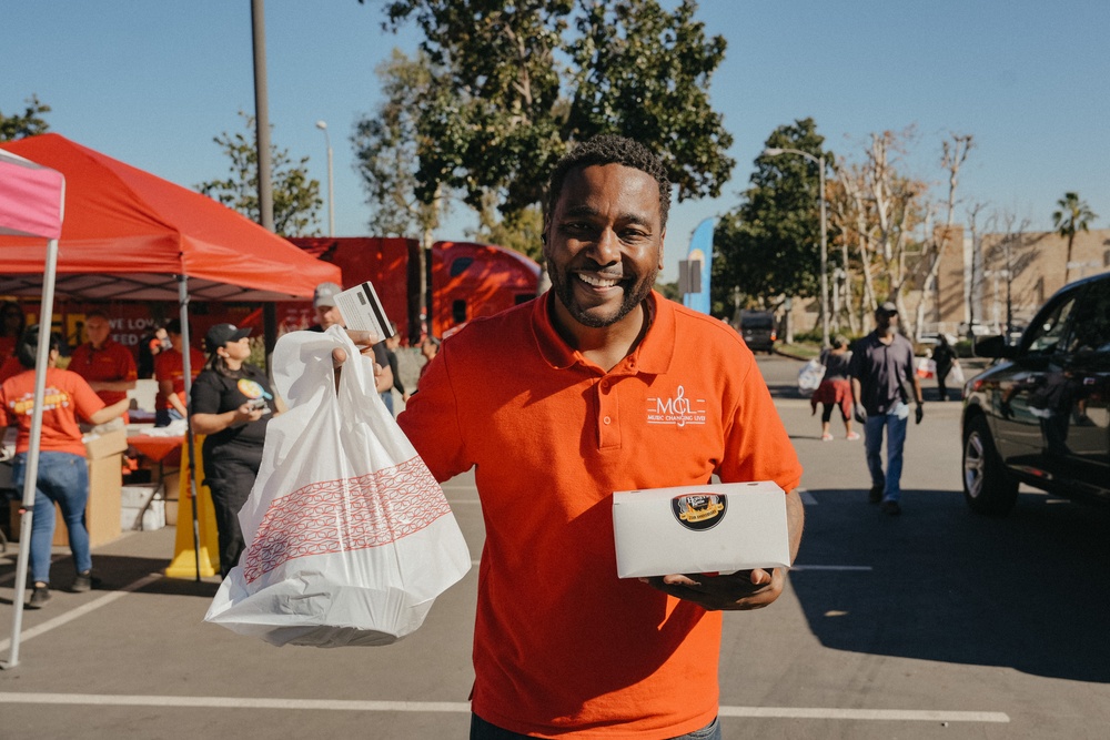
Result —
<instances>
[{"instance_id":1,"label":"bright orange polo shirt with white Music Changing Lives logo","mask_svg":"<svg viewBox=\"0 0 1110 740\"><path fill-rule=\"evenodd\" d=\"M652 294L606 373L548 295L470 323L397 419L438 480L475 467L474 712L537 737L657 740L717 713L719 612L618 579L614 490L775 480L801 466L755 358L725 324Z\"/></svg>"}]
</instances>

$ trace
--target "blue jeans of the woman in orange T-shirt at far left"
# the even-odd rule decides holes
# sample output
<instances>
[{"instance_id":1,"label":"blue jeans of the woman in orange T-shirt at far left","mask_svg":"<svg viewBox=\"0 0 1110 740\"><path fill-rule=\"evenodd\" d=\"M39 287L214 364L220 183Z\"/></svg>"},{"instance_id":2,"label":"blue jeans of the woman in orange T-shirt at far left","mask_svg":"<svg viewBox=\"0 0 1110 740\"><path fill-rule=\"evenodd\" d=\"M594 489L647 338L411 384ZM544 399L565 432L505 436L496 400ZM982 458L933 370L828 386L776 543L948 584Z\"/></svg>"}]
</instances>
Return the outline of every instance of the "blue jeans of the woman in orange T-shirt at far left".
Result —
<instances>
[{"instance_id":1,"label":"blue jeans of the woman in orange T-shirt at far left","mask_svg":"<svg viewBox=\"0 0 1110 740\"><path fill-rule=\"evenodd\" d=\"M22 490L27 479L27 453L16 456L11 483ZM92 568L84 506L89 501L89 464L71 453L39 453L39 476L31 517L31 579L50 582L50 549L54 539L54 504L69 529L70 549L78 572Z\"/></svg>"}]
</instances>

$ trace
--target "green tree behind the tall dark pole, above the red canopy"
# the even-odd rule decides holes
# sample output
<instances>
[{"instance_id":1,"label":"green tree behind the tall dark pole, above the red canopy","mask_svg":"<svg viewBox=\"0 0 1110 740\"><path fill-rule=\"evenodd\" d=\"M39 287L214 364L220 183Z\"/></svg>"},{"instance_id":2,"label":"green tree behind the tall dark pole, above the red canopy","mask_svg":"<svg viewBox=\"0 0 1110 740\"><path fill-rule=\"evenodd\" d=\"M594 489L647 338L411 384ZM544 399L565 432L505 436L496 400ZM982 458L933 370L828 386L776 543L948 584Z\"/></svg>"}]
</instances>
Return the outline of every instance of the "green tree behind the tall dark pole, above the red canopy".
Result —
<instances>
[{"instance_id":1,"label":"green tree behind the tall dark pole, above the red canopy","mask_svg":"<svg viewBox=\"0 0 1110 740\"><path fill-rule=\"evenodd\" d=\"M261 223L254 116L243 111L239 115L246 125L246 134L224 132L213 139L231 159L231 176L201 183L196 189L255 223ZM273 162L274 233L282 236L319 234L319 229L309 229L317 223L324 202L320 197L320 181L309 178L305 169L309 158L301 158L294 164L287 150L280 150L271 144L270 151Z\"/></svg>"}]
</instances>

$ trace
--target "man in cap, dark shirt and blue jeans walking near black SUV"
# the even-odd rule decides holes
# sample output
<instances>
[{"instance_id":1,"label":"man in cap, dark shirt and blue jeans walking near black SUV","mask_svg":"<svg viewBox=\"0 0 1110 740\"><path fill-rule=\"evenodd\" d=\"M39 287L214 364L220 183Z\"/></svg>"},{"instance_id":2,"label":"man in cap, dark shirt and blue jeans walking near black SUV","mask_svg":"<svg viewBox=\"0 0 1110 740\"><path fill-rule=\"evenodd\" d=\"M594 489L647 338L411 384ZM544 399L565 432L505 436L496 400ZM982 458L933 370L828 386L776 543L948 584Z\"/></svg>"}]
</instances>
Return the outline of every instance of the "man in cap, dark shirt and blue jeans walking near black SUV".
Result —
<instances>
[{"instance_id":1,"label":"man in cap, dark shirt and blue jeans walking near black SUV","mask_svg":"<svg viewBox=\"0 0 1110 740\"><path fill-rule=\"evenodd\" d=\"M864 449L871 474L868 501L884 514L901 514L902 448L909 425L909 394L921 423L921 383L914 368L914 345L898 333L898 306L890 301L875 310L875 331L857 339L848 364L856 420L864 425ZM887 435L887 469L882 470L882 434Z\"/></svg>"}]
</instances>

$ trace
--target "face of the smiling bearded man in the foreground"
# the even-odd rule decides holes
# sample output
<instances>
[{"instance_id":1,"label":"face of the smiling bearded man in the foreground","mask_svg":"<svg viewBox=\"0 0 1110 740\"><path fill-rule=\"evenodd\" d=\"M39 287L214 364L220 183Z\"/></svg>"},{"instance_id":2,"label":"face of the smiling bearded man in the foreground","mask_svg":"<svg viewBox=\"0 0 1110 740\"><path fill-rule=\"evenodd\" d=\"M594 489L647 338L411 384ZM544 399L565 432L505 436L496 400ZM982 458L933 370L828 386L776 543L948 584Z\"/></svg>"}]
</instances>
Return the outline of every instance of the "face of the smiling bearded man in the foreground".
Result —
<instances>
[{"instance_id":1,"label":"face of the smiling bearded man in the foreground","mask_svg":"<svg viewBox=\"0 0 1110 740\"><path fill-rule=\"evenodd\" d=\"M547 229L552 291L589 327L616 324L652 291L663 267L659 186L623 164L572 170Z\"/></svg>"}]
</instances>

